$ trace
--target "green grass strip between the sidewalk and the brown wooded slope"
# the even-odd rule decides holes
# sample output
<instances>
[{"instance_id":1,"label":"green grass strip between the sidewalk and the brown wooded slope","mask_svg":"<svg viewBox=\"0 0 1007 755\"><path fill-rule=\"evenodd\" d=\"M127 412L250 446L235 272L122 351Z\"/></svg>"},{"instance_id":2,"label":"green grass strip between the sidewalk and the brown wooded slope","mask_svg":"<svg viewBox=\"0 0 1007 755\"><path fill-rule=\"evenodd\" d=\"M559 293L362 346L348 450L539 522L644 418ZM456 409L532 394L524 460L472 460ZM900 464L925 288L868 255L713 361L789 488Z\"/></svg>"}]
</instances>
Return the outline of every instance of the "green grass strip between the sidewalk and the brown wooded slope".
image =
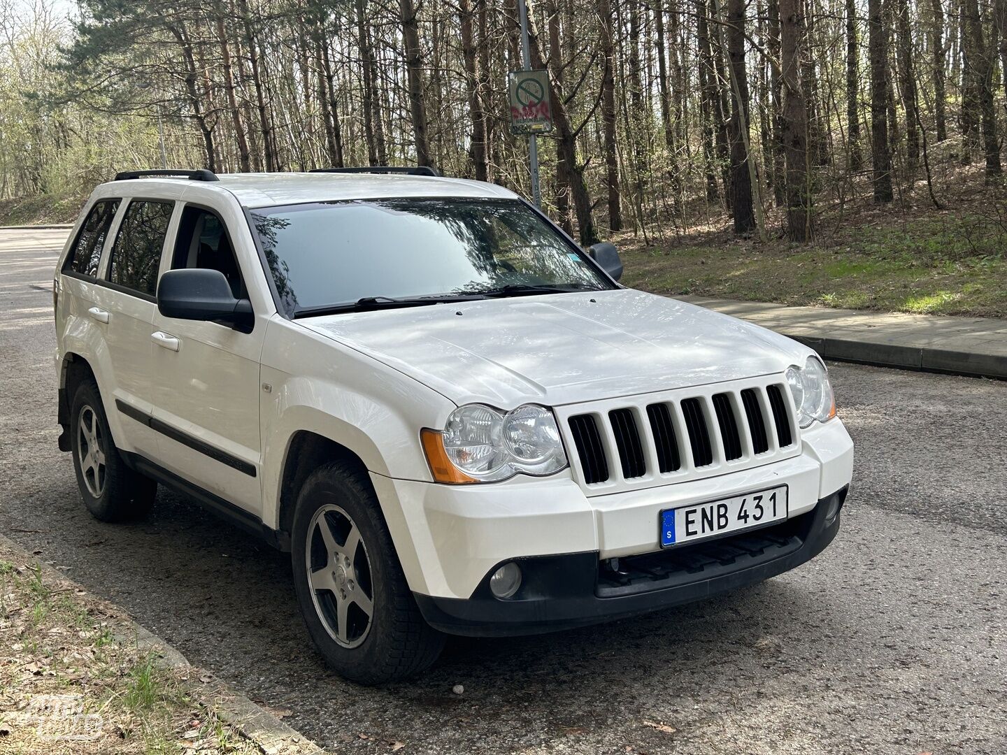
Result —
<instances>
[{"instance_id":1,"label":"green grass strip between the sidewalk and the brown wooded slope","mask_svg":"<svg viewBox=\"0 0 1007 755\"><path fill-rule=\"evenodd\" d=\"M655 293L1007 317L1007 223L996 215L850 223L804 247L719 233L649 249L623 239L620 248L623 283Z\"/></svg>"}]
</instances>

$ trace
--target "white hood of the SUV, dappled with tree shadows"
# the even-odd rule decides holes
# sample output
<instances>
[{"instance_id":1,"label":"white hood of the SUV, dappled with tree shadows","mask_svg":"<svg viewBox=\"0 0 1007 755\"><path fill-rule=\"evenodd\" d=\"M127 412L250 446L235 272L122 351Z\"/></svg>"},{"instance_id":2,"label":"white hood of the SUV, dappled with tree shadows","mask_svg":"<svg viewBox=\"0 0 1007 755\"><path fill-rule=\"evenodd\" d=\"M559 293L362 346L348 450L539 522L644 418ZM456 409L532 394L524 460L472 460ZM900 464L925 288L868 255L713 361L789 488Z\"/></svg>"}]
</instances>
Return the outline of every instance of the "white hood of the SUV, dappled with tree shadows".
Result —
<instances>
[{"instance_id":1,"label":"white hood of the SUV, dappled with tree shadows","mask_svg":"<svg viewBox=\"0 0 1007 755\"><path fill-rule=\"evenodd\" d=\"M632 289L511 297L297 320L457 404L512 409L667 391L803 363L806 346Z\"/></svg>"}]
</instances>

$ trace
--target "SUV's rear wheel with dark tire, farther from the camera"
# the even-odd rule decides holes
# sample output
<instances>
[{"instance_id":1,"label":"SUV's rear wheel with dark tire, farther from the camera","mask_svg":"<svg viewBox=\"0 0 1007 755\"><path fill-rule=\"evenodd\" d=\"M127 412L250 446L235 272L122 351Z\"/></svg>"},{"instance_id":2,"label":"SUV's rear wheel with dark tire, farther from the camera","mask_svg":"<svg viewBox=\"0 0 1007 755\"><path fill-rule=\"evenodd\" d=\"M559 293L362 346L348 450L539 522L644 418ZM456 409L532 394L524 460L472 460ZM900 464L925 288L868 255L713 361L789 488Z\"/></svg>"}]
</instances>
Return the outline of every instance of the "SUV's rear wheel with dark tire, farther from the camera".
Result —
<instances>
[{"instance_id":1,"label":"SUV's rear wheel with dark tire, farther from the camera","mask_svg":"<svg viewBox=\"0 0 1007 755\"><path fill-rule=\"evenodd\" d=\"M102 521L129 521L147 515L157 483L123 461L109 430L98 385L81 382L70 409L70 453L81 498Z\"/></svg>"}]
</instances>

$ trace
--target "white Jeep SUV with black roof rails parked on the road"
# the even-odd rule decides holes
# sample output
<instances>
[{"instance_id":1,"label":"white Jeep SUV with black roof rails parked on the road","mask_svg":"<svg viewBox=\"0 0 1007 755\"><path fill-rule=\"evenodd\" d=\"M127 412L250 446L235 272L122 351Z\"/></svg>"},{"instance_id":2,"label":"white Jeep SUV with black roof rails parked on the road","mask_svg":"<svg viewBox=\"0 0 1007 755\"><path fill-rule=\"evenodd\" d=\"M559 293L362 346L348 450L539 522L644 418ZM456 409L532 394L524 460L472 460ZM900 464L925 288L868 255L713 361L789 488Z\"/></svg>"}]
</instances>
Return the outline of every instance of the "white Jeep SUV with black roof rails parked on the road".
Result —
<instances>
[{"instance_id":1,"label":"white Jeep SUV with black roof rails parked on the road","mask_svg":"<svg viewBox=\"0 0 1007 755\"><path fill-rule=\"evenodd\" d=\"M59 447L100 519L159 482L290 551L365 684L813 558L853 465L825 365L621 269L429 169L120 174L55 274Z\"/></svg>"}]
</instances>

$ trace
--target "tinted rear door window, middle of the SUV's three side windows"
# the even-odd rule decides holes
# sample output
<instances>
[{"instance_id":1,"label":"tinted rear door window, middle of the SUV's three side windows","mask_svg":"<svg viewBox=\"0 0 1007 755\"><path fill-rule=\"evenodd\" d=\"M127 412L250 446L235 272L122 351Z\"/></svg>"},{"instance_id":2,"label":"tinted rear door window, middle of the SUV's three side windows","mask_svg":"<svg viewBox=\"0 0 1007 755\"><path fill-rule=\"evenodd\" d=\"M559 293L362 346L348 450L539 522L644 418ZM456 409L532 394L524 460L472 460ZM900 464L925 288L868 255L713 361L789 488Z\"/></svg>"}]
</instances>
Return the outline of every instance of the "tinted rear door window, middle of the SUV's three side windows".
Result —
<instances>
[{"instance_id":1,"label":"tinted rear door window, middle of the SUV's three side windows","mask_svg":"<svg viewBox=\"0 0 1007 755\"><path fill-rule=\"evenodd\" d=\"M170 201L144 199L129 203L112 247L109 282L154 296L161 251L173 209L174 202Z\"/></svg>"}]
</instances>

